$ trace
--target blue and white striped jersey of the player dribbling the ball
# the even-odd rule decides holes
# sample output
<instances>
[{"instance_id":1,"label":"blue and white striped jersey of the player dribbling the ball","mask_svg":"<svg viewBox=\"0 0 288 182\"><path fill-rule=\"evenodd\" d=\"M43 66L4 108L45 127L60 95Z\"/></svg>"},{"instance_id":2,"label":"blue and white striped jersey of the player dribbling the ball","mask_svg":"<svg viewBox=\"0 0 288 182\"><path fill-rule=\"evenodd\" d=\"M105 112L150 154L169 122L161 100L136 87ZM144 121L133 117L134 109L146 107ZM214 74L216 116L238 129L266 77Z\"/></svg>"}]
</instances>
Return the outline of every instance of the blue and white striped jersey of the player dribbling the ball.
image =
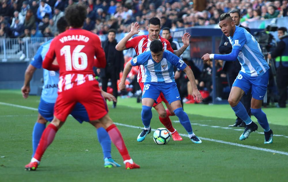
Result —
<instances>
[{"instance_id":1,"label":"blue and white striped jersey of the player dribbling the ball","mask_svg":"<svg viewBox=\"0 0 288 182\"><path fill-rule=\"evenodd\" d=\"M186 68L183 60L170 51L164 50L163 58L160 62L152 59L150 51L143 52L131 60L132 66L143 65L145 70L145 83L147 82L175 82L174 66L182 71Z\"/></svg>"}]
</instances>

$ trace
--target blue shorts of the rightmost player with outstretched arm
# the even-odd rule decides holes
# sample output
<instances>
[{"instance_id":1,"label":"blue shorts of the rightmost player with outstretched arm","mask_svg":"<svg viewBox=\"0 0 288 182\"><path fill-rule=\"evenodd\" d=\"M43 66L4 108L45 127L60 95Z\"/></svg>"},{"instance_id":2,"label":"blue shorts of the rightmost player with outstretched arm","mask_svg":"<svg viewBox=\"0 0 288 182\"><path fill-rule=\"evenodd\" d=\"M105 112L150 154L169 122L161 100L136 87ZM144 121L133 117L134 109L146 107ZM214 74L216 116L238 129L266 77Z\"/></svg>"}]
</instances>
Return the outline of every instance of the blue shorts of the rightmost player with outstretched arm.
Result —
<instances>
[{"instance_id":1,"label":"blue shorts of the rightmost player with outstretched arm","mask_svg":"<svg viewBox=\"0 0 288 182\"><path fill-rule=\"evenodd\" d=\"M269 69L261 76L251 77L242 71L239 72L232 87L239 87L244 90L245 94L252 88L252 97L257 100L263 100L267 91L269 80Z\"/></svg>"}]
</instances>

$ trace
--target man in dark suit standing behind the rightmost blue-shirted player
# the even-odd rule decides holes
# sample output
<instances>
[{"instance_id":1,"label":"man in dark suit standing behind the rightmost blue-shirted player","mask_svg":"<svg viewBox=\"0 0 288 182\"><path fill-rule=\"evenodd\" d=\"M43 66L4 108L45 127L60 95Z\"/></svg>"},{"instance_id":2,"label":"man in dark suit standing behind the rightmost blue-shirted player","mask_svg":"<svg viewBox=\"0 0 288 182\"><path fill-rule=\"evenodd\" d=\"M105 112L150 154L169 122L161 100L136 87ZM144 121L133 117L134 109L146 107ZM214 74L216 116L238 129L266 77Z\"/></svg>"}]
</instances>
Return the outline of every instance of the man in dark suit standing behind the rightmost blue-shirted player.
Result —
<instances>
[{"instance_id":1,"label":"man in dark suit standing behind the rightmost blue-shirted player","mask_svg":"<svg viewBox=\"0 0 288 182\"><path fill-rule=\"evenodd\" d=\"M248 27L240 25L240 12L239 10L232 10L230 11L230 16L233 19L233 22L236 26L242 27L246 29L248 32L250 32L250 29ZM229 39L223 34L221 38L221 43L219 45L219 52L223 54L229 54L232 51L232 45L229 42ZM232 84L234 80L236 79L239 71L241 69L240 62L238 60L235 61L224 61L223 62L223 71L226 72L228 84L230 88L232 88ZM241 99L241 102L245 106L245 109L249 116L251 117L251 92L247 95L244 95ZM237 115L236 115L237 116ZM245 127L246 124L243 122L238 116L236 119L235 124L229 125L229 126L239 126L239 127Z\"/></svg>"}]
</instances>

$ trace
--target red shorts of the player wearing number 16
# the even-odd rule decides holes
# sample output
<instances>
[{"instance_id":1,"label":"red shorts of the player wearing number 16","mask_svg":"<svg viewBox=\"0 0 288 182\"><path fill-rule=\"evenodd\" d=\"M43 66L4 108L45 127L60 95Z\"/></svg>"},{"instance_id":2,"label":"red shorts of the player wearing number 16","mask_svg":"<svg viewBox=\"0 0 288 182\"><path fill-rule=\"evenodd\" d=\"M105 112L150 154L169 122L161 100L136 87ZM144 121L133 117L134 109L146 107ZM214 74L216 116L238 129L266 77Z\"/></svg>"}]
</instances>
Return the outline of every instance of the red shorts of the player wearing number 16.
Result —
<instances>
[{"instance_id":1,"label":"red shorts of the player wearing number 16","mask_svg":"<svg viewBox=\"0 0 288 182\"><path fill-rule=\"evenodd\" d=\"M65 122L77 102L84 105L90 121L98 120L108 113L105 98L96 80L86 81L84 84L59 92L54 115L60 121Z\"/></svg>"}]
</instances>

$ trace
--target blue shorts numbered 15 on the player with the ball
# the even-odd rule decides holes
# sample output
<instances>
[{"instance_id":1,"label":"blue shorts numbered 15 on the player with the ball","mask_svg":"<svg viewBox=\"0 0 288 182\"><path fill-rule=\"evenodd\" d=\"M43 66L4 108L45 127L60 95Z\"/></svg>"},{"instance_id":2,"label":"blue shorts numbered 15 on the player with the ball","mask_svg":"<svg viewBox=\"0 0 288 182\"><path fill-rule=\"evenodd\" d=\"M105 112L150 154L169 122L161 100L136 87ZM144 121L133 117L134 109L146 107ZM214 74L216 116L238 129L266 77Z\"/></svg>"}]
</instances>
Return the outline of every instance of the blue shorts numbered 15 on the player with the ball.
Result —
<instances>
[{"instance_id":1,"label":"blue shorts numbered 15 on the player with the ball","mask_svg":"<svg viewBox=\"0 0 288 182\"><path fill-rule=\"evenodd\" d=\"M169 104L174 101L181 100L180 94L177 89L175 82L170 83L158 83L158 82L147 82L144 83L144 88L142 92L142 98L152 98L157 103L157 98L160 92L163 93Z\"/></svg>"}]
</instances>

